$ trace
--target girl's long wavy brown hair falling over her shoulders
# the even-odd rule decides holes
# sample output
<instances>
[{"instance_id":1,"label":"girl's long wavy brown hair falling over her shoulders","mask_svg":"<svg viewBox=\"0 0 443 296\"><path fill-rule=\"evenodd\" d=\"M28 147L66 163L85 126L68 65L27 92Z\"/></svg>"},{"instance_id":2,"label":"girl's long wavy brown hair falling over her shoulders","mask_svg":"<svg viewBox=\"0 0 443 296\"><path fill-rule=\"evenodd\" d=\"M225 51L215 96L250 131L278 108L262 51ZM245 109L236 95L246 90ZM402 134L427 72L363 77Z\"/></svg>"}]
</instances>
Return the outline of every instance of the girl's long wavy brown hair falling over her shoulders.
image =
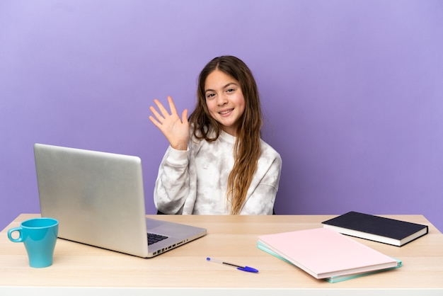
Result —
<instances>
[{"instance_id":1,"label":"girl's long wavy brown hair falling over her shoulders","mask_svg":"<svg viewBox=\"0 0 443 296\"><path fill-rule=\"evenodd\" d=\"M197 139L212 142L220 135L220 124L209 114L205 98L205 81L207 76L215 70L224 72L240 83L246 104L237 127L234 167L229 173L226 190L226 198L231 203L231 215L238 215L246 200L246 193L260 157L260 129L262 127L260 100L253 74L241 59L232 56L212 59L200 73L197 105L189 118L190 123L195 127L194 136Z\"/></svg>"}]
</instances>

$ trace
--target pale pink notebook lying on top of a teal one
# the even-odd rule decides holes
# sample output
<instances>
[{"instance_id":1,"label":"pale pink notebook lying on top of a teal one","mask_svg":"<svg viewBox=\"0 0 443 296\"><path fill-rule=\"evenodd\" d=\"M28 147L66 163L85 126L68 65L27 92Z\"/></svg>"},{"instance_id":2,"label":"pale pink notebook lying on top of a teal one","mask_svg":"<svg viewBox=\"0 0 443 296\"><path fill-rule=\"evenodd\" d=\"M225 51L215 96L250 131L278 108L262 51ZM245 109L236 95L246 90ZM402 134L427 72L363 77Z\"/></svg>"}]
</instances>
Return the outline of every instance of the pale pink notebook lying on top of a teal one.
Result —
<instances>
[{"instance_id":1,"label":"pale pink notebook lying on top of a teal one","mask_svg":"<svg viewBox=\"0 0 443 296\"><path fill-rule=\"evenodd\" d=\"M378 271L398 264L396 259L326 228L262 235L258 244L314 278Z\"/></svg>"}]
</instances>

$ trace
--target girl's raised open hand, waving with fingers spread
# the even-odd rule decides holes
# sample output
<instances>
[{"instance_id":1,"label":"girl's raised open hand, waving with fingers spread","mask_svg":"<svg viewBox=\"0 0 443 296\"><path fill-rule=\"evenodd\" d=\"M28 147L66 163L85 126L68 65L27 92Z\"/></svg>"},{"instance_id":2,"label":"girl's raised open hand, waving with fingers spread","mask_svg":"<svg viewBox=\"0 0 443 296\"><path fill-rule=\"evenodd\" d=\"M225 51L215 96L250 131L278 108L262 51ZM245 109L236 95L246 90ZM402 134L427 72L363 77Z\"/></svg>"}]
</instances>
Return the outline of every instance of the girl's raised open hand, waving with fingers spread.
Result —
<instances>
[{"instance_id":1,"label":"girl's raised open hand, waving with fingers spread","mask_svg":"<svg viewBox=\"0 0 443 296\"><path fill-rule=\"evenodd\" d=\"M163 132L166 139L171 144L173 149L177 150L186 150L188 149L188 140L189 140L189 123L188 123L188 109L183 110L183 113L180 116L177 113L176 105L174 104L171 96L168 96L169 108L171 109L171 114L168 113L168 110L160 103L159 100L155 99L154 103L156 103L159 111L156 110L153 106L149 109L151 110L152 115L149 115L149 119L156 127L159 127L159 130Z\"/></svg>"}]
</instances>

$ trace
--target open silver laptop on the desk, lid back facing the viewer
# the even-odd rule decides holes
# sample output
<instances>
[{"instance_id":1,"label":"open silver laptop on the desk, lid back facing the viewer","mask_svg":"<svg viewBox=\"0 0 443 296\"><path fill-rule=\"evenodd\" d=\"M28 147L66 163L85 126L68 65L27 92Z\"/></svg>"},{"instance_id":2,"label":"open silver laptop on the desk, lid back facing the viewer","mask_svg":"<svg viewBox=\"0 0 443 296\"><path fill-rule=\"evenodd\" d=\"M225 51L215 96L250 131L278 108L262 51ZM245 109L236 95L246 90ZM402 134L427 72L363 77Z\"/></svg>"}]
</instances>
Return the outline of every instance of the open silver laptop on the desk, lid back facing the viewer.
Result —
<instances>
[{"instance_id":1,"label":"open silver laptop on the desk, lid back facing the viewer","mask_svg":"<svg viewBox=\"0 0 443 296\"><path fill-rule=\"evenodd\" d=\"M34 156L42 217L59 220L62 239L150 258L207 233L146 218L137 156L47 144L34 144Z\"/></svg>"}]
</instances>

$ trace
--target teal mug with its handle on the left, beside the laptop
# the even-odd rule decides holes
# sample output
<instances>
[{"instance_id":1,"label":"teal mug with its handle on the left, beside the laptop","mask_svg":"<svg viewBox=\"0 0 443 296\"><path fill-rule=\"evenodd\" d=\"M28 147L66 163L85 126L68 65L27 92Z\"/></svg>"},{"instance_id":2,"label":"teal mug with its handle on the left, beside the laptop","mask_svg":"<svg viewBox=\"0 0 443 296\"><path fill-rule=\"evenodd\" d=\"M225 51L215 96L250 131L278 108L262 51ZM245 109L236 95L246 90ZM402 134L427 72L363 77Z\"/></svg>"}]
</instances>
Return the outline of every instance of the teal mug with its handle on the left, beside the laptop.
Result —
<instances>
[{"instance_id":1,"label":"teal mug with its handle on the left, beside the laptop","mask_svg":"<svg viewBox=\"0 0 443 296\"><path fill-rule=\"evenodd\" d=\"M15 239L13 232L18 232ZM29 265L42 268L52 265L55 243L59 233L59 222L52 218L35 218L21 222L20 227L8 230L8 238L16 243L23 242L28 252Z\"/></svg>"}]
</instances>

